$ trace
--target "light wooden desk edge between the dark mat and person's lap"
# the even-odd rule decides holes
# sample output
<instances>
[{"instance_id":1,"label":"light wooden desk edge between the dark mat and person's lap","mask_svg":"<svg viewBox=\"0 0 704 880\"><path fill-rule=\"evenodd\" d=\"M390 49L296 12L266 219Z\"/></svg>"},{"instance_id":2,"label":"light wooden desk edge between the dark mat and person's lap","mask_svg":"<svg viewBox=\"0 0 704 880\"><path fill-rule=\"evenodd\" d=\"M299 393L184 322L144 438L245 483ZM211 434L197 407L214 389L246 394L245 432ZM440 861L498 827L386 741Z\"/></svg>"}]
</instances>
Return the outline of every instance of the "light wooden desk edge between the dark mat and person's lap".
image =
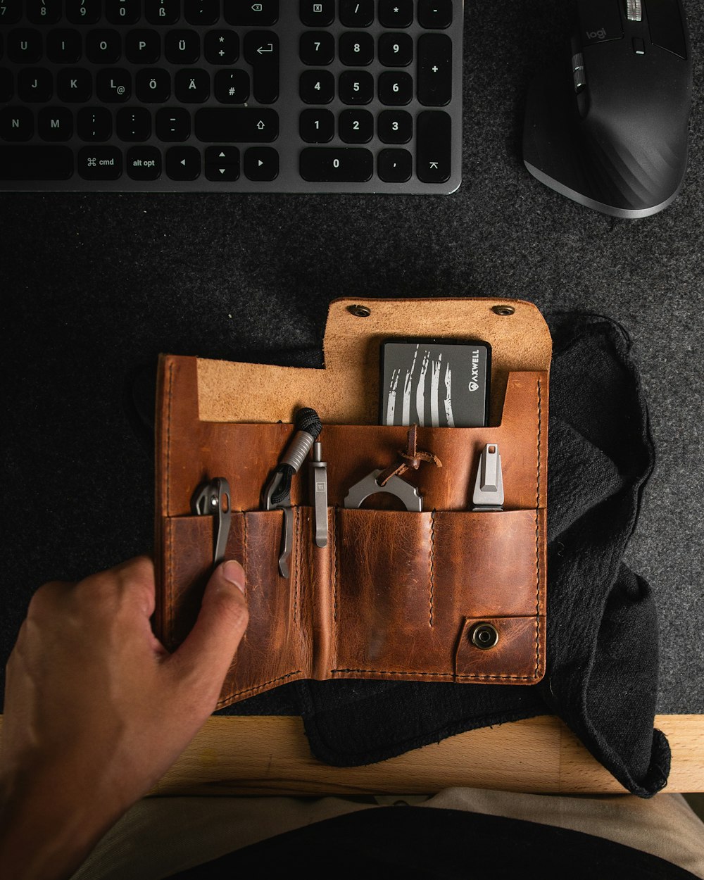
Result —
<instances>
[{"instance_id":1,"label":"light wooden desk edge between the dark mat and person's lap","mask_svg":"<svg viewBox=\"0 0 704 880\"><path fill-rule=\"evenodd\" d=\"M704 791L704 715L657 715L672 749L667 791ZM214 716L158 795L432 794L448 786L623 793L560 719L470 730L398 758L332 767L312 758L300 718Z\"/></svg>"}]
</instances>

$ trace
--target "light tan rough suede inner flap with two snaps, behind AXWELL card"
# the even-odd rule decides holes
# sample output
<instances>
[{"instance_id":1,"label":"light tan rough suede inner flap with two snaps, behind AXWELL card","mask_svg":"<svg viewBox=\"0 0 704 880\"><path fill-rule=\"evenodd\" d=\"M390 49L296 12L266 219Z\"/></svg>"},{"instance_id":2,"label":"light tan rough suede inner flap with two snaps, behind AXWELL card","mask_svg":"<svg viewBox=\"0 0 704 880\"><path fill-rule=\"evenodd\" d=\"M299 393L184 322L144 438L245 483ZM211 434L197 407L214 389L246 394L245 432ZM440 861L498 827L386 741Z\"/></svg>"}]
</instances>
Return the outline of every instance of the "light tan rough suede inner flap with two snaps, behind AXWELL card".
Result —
<instances>
[{"instance_id":1,"label":"light tan rough suede inner flap with two snaps, behind AXWELL card","mask_svg":"<svg viewBox=\"0 0 704 880\"><path fill-rule=\"evenodd\" d=\"M354 306L363 306L369 315L357 317L350 311ZM550 367L545 319L523 300L337 299L327 314L325 370L199 359L199 417L203 422L293 422L297 408L314 400L323 422L375 424L379 345L404 336L487 341L492 424L500 421L509 372Z\"/></svg>"}]
</instances>

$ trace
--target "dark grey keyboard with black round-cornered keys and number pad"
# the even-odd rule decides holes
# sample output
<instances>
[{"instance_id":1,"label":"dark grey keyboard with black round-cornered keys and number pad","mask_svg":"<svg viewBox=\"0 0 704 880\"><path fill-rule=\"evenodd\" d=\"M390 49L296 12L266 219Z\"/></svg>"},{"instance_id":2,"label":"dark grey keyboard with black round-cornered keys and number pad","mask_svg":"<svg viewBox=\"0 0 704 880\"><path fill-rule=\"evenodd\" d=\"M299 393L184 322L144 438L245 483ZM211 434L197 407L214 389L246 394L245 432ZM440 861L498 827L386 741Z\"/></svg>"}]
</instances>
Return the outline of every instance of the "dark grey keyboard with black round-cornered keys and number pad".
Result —
<instances>
[{"instance_id":1,"label":"dark grey keyboard with black round-cornered keys and number pad","mask_svg":"<svg viewBox=\"0 0 704 880\"><path fill-rule=\"evenodd\" d=\"M0 190L451 193L462 0L0 0Z\"/></svg>"}]
</instances>

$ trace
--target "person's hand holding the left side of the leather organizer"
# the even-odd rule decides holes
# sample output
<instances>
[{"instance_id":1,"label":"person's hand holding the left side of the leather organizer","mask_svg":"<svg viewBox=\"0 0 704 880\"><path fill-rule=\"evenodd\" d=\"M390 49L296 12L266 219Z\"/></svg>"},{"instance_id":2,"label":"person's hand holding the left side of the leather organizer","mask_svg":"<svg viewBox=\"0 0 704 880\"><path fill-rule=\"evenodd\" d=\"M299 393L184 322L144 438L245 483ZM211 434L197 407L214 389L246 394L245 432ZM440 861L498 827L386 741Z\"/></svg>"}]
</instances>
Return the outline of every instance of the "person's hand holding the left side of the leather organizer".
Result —
<instances>
[{"instance_id":1,"label":"person's hand holding the left side of the leather organizer","mask_svg":"<svg viewBox=\"0 0 704 880\"><path fill-rule=\"evenodd\" d=\"M0 876L70 876L216 707L247 625L245 573L216 568L173 654L141 556L34 594L7 664Z\"/></svg>"}]
</instances>

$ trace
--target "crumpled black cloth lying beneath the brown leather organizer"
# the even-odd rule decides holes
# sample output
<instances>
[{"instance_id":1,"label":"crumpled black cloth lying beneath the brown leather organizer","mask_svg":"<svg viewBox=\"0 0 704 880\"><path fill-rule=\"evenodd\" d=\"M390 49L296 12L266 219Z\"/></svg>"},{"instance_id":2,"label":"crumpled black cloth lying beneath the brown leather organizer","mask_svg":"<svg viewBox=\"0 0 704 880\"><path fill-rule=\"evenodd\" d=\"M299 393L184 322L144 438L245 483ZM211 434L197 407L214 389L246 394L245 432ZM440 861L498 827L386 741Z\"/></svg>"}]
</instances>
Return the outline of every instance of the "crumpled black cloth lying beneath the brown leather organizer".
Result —
<instances>
[{"instance_id":1,"label":"crumpled black cloth lying beneath the brown leather organizer","mask_svg":"<svg viewBox=\"0 0 704 880\"><path fill-rule=\"evenodd\" d=\"M634 795L670 772L653 730L656 605L623 563L654 463L627 332L597 315L549 319L546 676L536 686L303 681L219 714L303 716L312 753L357 766L464 730L559 715ZM530 759L530 756L526 756Z\"/></svg>"}]
</instances>

